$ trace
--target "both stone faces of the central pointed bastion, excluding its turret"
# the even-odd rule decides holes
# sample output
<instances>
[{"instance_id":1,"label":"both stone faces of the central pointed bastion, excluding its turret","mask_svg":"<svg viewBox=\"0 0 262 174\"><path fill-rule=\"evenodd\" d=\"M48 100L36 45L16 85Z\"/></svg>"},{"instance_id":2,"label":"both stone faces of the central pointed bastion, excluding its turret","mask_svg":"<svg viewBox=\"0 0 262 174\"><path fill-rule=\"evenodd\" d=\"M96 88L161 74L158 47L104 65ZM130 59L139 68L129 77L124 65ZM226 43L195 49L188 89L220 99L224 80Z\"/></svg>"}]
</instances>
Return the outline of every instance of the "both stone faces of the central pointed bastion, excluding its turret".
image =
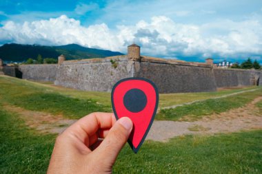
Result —
<instances>
[{"instance_id":1,"label":"both stone faces of the central pointed bastion, excluding its turret","mask_svg":"<svg viewBox=\"0 0 262 174\"><path fill-rule=\"evenodd\" d=\"M87 91L111 91L118 80L128 77L148 78L157 85L160 93L216 90L210 65L163 62L162 59L151 58L142 58L139 62L125 56L65 61L58 68L54 84Z\"/></svg>"}]
</instances>

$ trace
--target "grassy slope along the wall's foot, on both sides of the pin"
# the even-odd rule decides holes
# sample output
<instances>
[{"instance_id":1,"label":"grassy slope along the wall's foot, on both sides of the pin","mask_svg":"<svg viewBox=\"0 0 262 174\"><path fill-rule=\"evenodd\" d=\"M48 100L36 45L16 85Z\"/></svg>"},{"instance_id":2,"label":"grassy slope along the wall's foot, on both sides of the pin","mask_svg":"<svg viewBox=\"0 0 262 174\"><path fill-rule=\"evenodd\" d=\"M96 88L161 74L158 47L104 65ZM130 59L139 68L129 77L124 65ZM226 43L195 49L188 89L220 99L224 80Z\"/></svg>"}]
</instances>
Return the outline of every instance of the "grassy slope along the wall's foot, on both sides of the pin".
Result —
<instances>
[{"instance_id":1,"label":"grassy slope along the wall's foot, on both sides of the pin","mask_svg":"<svg viewBox=\"0 0 262 174\"><path fill-rule=\"evenodd\" d=\"M248 90L254 87L241 89ZM199 100L222 94L231 94L239 89L199 94L163 94L160 102L181 103L188 100ZM175 109L162 109L157 114L158 120L179 120L186 116L196 120L212 113L221 113L232 108L241 107L262 94L259 90L229 96L227 98L208 99ZM172 98L170 98L172 96ZM175 97L177 96L177 97ZM81 118L94 111L112 111L110 94L105 92L77 91L50 84L39 84L8 76L0 76L0 100L29 110L46 111L63 114L68 118ZM101 104L97 104L97 101Z\"/></svg>"}]
</instances>

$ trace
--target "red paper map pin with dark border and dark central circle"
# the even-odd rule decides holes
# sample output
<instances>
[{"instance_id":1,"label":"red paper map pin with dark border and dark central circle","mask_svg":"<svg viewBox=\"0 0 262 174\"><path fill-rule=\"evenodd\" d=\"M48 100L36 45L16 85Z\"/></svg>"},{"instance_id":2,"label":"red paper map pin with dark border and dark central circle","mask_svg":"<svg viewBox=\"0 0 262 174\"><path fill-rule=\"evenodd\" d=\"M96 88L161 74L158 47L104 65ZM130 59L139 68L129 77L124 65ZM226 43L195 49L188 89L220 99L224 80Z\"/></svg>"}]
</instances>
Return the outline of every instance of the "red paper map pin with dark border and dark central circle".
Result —
<instances>
[{"instance_id":1,"label":"red paper map pin with dark border and dark central circle","mask_svg":"<svg viewBox=\"0 0 262 174\"><path fill-rule=\"evenodd\" d=\"M128 117L133 122L134 127L128 143L134 153L137 153L157 113L157 86L146 78L124 78L114 85L111 100L117 120Z\"/></svg>"}]
</instances>

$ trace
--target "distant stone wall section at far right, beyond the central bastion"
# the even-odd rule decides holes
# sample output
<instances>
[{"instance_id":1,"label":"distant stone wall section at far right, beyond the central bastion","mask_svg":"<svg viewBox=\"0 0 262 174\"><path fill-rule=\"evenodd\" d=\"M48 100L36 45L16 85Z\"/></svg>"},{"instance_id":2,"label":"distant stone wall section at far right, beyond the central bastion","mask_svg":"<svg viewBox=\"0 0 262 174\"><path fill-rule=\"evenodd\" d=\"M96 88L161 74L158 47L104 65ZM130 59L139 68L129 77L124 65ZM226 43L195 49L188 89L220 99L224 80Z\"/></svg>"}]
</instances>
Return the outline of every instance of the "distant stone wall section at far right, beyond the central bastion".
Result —
<instances>
[{"instance_id":1,"label":"distant stone wall section at far right, beyond the central bastion","mask_svg":"<svg viewBox=\"0 0 262 174\"><path fill-rule=\"evenodd\" d=\"M254 85L261 72L244 69L214 69L217 87L236 87Z\"/></svg>"}]
</instances>

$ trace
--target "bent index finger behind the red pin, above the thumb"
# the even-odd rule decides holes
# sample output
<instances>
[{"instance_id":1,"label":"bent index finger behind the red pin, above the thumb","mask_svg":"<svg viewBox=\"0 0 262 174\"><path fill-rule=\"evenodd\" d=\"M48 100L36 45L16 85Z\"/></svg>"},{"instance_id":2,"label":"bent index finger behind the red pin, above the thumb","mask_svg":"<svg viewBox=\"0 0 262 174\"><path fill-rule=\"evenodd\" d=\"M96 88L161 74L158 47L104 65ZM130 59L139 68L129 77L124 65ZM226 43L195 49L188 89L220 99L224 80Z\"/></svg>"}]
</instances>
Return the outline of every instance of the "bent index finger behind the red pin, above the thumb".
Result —
<instances>
[{"instance_id":1,"label":"bent index finger behind the red pin, above the thumb","mask_svg":"<svg viewBox=\"0 0 262 174\"><path fill-rule=\"evenodd\" d=\"M64 133L71 133L89 146L89 139L92 135L96 134L99 129L110 129L114 122L116 122L114 113L90 113L74 122Z\"/></svg>"}]
</instances>

